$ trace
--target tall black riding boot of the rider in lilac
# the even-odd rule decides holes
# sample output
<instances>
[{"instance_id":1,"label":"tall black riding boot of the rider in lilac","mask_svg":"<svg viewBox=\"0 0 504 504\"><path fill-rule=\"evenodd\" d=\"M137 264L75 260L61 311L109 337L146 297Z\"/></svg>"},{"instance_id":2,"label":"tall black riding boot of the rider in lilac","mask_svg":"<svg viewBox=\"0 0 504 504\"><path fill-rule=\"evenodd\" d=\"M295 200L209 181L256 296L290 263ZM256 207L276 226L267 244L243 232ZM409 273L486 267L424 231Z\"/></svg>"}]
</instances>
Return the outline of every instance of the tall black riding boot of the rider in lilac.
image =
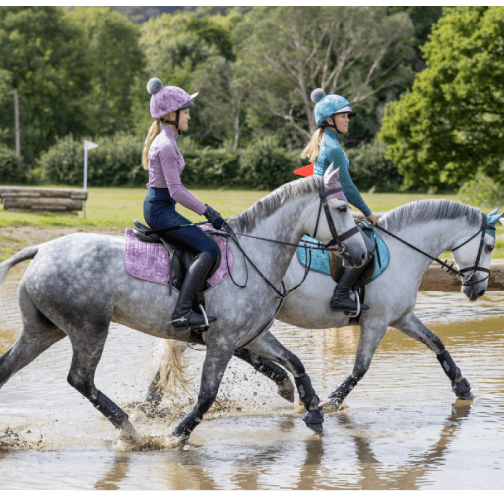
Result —
<instances>
[{"instance_id":1,"label":"tall black riding boot of the rider in lilac","mask_svg":"<svg viewBox=\"0 0 504 504\"><path fill-rule=\"evenodd\" d=\"M205 326L205 317L192 309L193 299L207 278L214 265L214 260L208 252L202 252L185 274L184 283L178 294L177 305L173 311L171 322L175 332L185 331L190 327ZM215 322L216 317L207 317L208 323Z\"/></svg>"}]
</instances>

